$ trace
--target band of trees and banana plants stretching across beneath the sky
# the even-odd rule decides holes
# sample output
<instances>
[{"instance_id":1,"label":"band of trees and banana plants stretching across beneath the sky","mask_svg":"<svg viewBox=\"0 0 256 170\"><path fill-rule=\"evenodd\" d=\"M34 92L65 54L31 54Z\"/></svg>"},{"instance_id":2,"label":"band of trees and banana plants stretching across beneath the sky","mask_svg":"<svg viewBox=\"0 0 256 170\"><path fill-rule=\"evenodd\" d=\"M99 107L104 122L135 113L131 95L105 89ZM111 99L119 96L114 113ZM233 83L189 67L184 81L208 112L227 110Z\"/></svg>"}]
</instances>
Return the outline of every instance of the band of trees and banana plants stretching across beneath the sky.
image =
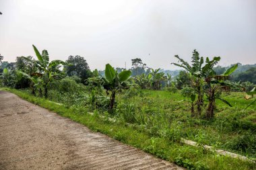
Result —
<instances>
[{"instance_id":1,"label":"band of trees and banana plants stretching across beneath the sky","mask_svg":"<svg viewBox=\"0 0 256 170\"><path fill-rule=\"evenodd\" d=\"M102 89L106 90L106 94L110 95L108 102L108 112L113 113L115 109L115 96L117 93L125 89L166 89L173 93L181 90L183 96L187 97L191 103L191 116L203 118L202 112L205 108L205 99L207 98L207 106L205 108L205 118L214 118L214 109L216 108L216 99L223 101L232 106L228 101L222 99L222 91L230 90L236 87L243 91L250 91L255 85L247 83L249 89L243 89L241 84L235 84L231 81L230 75L235 73L238 65L232 65L229 68L216 67L220 61L220 56L210 59L199 56L197 50L193 51L191 57L191 65L178 55L174 56L178 62L171 63L181 67L184 71L180 71L179 75L173 77L169 73L164 73L160 69L151 69L143 63L140 58L131 60L132 67L129 70L123 68L113 68L107 64L104 71L90 71L90 67L84 57L69 56L67 60L49 60L47 50L39 52L33 45L36 59L32 56L19 56L16 62L1 61L1 83L8 87L16 89L30 88L33 95L47 98L51 83L65 77L72 77L76 83L82 83L90 87L90 97L92 103L96 103L98 96L102 94ZM252 79L255 77L255 67L251 67L245 72L241 72L238 76ZM253 76L250 77L250 75Z\"/></svg>"}]
</instances>

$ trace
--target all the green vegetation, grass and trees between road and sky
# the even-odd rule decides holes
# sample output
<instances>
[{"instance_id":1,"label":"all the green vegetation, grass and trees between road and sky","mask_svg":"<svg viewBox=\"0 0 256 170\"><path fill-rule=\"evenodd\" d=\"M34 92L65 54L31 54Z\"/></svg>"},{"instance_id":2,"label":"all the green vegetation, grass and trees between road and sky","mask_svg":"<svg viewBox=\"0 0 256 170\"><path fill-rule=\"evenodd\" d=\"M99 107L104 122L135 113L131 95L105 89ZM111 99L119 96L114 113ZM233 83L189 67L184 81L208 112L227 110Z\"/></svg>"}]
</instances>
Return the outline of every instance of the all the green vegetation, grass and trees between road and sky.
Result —
<instances>
[{"instance_id":1,"label":"all the green vegetation, grass and trees between road and sky","mask_svg":"<svg viewBox=\"0 0 256 170\"><path fill-rule=\"evenodd\" d=\"M182 64L175 65L186 70L177 77L139 58L130 70L107 64L105 71L90 71L81 56L50 62L46 50L40 54L33 47L37 60L22 56L1 65L2 85L19 89L7 90L187 169L256 168L180 142L186 138L256 159L255 85L228 81L238 65L215 71L220 57L205 59L194 50L192 65L176 56Z\"/></svg>"}]
</instances>

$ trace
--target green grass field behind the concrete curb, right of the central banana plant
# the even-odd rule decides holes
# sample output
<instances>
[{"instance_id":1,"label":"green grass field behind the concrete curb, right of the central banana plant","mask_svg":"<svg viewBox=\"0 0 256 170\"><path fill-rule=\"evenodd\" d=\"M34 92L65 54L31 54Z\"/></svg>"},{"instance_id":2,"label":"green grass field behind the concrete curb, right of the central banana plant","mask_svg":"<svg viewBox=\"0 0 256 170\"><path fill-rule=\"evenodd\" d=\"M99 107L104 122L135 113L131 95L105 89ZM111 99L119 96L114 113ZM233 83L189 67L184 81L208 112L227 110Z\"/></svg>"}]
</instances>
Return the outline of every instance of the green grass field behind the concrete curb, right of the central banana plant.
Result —
<instances>
[{"instance_id":1,"label":"green grass field behind the concrete curb, right of the central banana plant","mask_svg":"<svg viewBox=\"0 0 256 170\"><path fill-rule=\"evenodd\" d=\"M256 158L256 105L243 111L250 102L243 98L245 93L223 95L233 107L217 101L216 118L210 121L191 118L189 102L183 101L185 98L180 93L150 90L144 93L144 97L135 97L128 102L121 96L119 99L123 103L134 103L135 110L139 110L137 114L156 120L148 126L149 129L156 126L154 135L164 137L162 131L176 130L178 132L172 133L172 137L176 135L178 139L183 137Z\"/></svg>"}]
</instances>

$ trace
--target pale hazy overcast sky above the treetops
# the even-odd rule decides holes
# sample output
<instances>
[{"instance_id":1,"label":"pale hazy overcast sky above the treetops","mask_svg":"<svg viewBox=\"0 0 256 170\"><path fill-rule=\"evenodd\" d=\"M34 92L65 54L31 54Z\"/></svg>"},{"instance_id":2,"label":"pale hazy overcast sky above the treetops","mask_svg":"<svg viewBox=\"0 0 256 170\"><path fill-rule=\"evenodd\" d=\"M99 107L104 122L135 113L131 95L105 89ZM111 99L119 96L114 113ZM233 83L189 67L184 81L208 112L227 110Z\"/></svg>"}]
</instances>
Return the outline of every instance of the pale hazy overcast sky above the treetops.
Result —
<instances>
[{"instance_id":1,"label":"pale hazy overcast sky above the treetops","mask_svg":"<svg viewBox=\"0 0 256 170\"><path fill-rule=\"evenodd\" d=\"M86 58L90 69L131 67L141 58L154 69L179 69L221 56L219 65L256 63L255 0L0 0L0 54L13 62L48 50L51 60Z\"/></svg>"}]
</instances>

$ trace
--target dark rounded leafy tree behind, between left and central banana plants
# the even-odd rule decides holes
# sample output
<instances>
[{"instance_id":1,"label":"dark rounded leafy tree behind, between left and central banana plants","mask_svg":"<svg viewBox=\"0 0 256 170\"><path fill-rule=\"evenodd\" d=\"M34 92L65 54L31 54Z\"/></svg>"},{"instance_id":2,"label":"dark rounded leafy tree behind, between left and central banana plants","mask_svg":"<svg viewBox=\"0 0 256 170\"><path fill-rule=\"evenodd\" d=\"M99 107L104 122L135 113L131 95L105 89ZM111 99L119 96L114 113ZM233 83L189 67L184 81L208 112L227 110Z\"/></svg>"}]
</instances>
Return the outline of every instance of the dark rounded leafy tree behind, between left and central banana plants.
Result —
<instances>
[{"instance_id":1,"label":"dark rounded leafy tree behind, between left and central banana plants","mask_svg":"<svg viewBox=\"0 0 256 170\"><path fill-rule=\"evenodd\" d=\"M82 56L69 56L66 60L65 71L68 76L77 76L81 78L82 83L86 83L86 79L92 77L90 67L84 57Z\"/></svg>"}]
</instances>

